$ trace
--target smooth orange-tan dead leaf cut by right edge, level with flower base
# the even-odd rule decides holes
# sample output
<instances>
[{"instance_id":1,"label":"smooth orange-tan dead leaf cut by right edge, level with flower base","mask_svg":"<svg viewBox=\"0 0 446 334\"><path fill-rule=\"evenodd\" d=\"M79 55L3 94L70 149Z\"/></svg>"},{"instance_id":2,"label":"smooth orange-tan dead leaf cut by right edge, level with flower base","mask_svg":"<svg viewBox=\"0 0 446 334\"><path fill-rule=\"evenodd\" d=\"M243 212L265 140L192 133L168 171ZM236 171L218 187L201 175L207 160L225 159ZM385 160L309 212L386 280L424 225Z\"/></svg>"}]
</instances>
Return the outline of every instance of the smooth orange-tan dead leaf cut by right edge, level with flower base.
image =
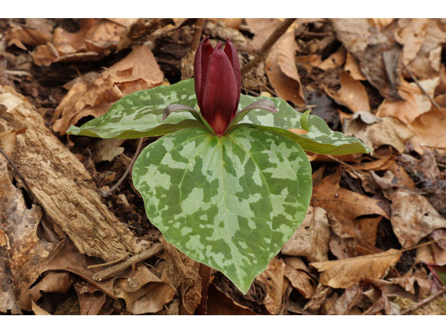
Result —
<instances>
[{"instance_id":1,"label":"smooth orange-tan dead leaf cut by right edge, level with flower base","mask_svg":"<svg viewBox=\"0 0 446 334\"><path fill-rule=\"evenodd\" d=\"M425 148L446 148L446 108L432 109L416 118L410 129L415 136L410 138L410 146L419 154Z\"/></svg>"}]
</instances>

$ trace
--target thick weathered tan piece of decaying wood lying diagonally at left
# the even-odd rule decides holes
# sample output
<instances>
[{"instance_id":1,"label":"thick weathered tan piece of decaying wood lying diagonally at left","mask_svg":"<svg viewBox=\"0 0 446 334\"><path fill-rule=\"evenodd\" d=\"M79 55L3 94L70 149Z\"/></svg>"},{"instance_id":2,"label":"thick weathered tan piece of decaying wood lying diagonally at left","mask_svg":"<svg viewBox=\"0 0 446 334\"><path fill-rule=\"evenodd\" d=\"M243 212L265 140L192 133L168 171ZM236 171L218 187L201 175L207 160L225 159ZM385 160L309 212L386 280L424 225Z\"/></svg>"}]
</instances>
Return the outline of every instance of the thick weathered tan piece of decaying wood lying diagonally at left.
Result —
<instances>
[{"instance_id":1,"label":"thick weathered tan piece of decaying wood lying diagonally at left","mask_svg":"<svg viewBox=\"0 0 446 334\"><path fill-rule=\"evenodd\" d=\"M49 218L82 254L110 262L129 252L139 253L132 232L102 204L84 165L45 127L43 118L22 95L0 86L0 97L6 93L22 103L0 109L0 132L26 128L17 134L10 158Z\"/></svg>"}]
</instances>

